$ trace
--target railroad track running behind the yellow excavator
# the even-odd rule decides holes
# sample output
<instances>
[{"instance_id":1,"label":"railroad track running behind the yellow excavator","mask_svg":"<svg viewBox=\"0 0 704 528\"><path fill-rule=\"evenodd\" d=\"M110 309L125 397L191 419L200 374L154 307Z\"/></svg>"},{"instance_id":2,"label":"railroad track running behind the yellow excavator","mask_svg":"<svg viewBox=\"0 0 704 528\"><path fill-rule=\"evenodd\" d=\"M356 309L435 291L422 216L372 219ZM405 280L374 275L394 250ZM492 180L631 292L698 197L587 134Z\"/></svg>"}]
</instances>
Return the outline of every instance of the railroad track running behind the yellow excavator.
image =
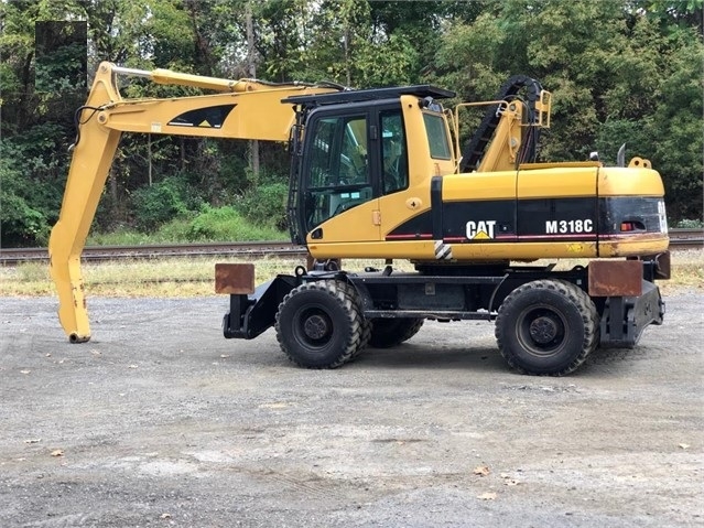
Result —
<instances>
[{"instance_id":1,"label":"railroad track running behind the yellow excavator","mask_svg":"<svg viewBox=\"0 0 704 528\"><path fill-rule=\"evenodd\" d=\"M704 248L704 229L670 229L670 248ZM156 259L164 257L292 257L303 258L305 247L285 241L273 243L205 243L144 246L88 246L83 251L83 260L129 260ZM2 248L0 265L13 266L20 262L47 262L46 248Z\"/></svg>"}]
</instances>

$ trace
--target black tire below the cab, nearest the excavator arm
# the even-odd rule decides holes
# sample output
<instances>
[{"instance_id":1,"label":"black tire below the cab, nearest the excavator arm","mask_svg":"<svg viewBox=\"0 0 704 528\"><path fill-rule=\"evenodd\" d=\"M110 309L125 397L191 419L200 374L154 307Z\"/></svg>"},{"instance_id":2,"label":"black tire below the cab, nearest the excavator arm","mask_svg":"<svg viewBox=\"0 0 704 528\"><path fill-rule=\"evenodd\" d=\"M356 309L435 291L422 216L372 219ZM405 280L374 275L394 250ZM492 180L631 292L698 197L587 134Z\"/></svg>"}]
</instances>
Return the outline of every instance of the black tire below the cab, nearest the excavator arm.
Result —
<instances>
[{"instance_id":1,"label":"black tire below the cab, nearest the excavator arm","mask_svg":"<svg viewBox=\"0 0 704 528\"><path fill-rule=\"evenodd\" d=\"M364 319L349 284L306 282L283 298L274 324L286 357L306 368L337 368L362 344Z\"/></svg>"}]
</instances>

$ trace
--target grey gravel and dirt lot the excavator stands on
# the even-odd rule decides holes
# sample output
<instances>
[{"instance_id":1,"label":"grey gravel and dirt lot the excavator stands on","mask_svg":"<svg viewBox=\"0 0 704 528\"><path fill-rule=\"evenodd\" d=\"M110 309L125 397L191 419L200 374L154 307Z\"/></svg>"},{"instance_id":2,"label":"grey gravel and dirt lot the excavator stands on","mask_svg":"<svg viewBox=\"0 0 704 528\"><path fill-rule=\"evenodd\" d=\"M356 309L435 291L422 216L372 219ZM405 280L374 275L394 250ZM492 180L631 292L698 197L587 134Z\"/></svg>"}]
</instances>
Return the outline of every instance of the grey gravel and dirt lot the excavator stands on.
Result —
<instances>
[{"instance_id":1,"label":"grey gravel and dirt lot the excavator stands on","mask_svg":"<svg viewBox=\"0 0 704 528\"><path fill-rule=\"evenodd\" d=\"M507 369L486 322L430 322L332 371L226 298L0 301L2 527L704 526L704 298L577 374Z\"/></svg>"}]
</instances>

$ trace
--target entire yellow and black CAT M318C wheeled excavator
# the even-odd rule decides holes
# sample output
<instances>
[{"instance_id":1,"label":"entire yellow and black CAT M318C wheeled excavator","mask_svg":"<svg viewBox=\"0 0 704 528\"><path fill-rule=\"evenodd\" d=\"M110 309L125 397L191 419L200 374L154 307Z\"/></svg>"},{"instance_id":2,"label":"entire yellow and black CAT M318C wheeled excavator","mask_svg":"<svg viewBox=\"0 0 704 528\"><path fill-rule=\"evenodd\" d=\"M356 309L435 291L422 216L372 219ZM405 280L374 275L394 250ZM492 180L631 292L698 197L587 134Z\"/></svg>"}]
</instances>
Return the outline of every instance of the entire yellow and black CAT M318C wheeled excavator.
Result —
<instances>
[{"instance_id":1,"label":"entire yellow and black CAT M318C wheeled excavator","mask_svg":"<svg viewBox=\"0 0 704 528\"><path fill-rule=\"evenodd\" d=\"M119 76L195 86L210 95L126 99ZM565 375L598 346L635 346L661 324L656 280L670 276L660 175L628 166L535 162L551 94L515 76L496 100L442 101L431 85L349 89L220 79L100 64L85 106L59 219L50 239L59 320L90 338L80 255L123 131L288 143L288 219L308 266L254 284L253 265L216 265L229 294L225 337L273 326L283 353L335 368L366 347L391 347L425 320L495 322L498 348L524 374ZM459 111L487 106L461 150ZM621 157L622 158L622 157ZM342 259L382 259L345 270ZM588 259L559 271L554 262ZM393 260L410 260L399 271Z\"/></svg>"}]
</instances>

